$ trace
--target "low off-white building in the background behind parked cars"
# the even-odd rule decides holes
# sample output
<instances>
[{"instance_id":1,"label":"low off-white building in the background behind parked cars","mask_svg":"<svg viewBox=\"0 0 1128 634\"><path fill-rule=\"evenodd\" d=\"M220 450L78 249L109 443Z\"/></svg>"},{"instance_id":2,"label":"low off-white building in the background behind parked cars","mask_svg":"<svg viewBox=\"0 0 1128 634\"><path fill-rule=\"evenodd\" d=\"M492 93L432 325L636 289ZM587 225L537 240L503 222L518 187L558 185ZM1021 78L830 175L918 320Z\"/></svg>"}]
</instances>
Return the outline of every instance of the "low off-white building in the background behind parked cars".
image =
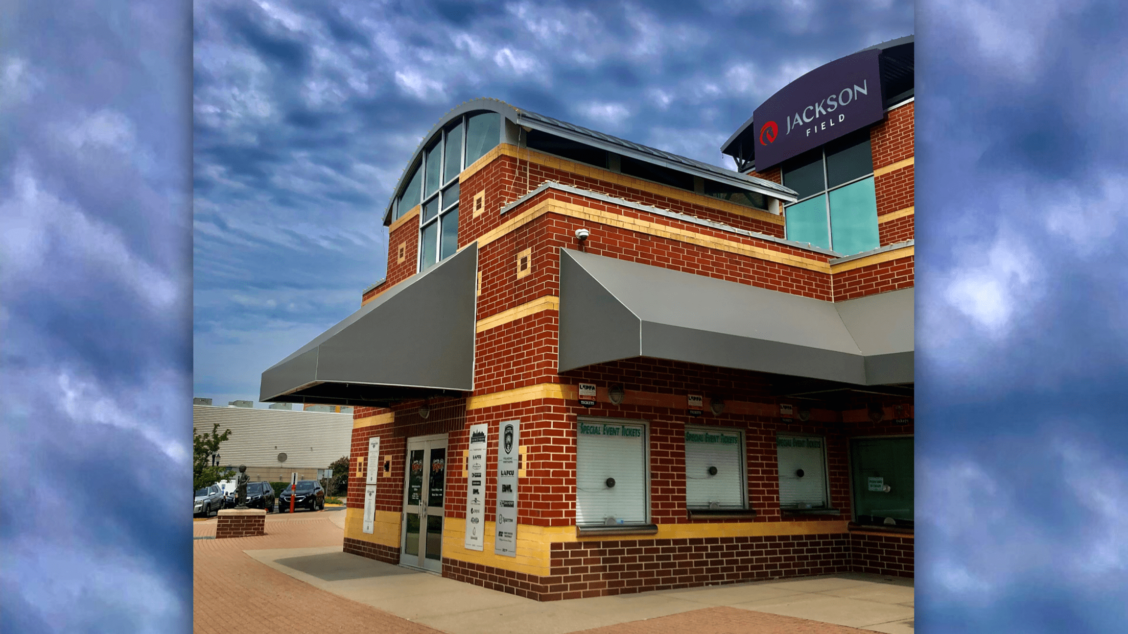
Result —
<instances>
[{"instance_id":1,"label":"low off-white building in the background behind parked cars","mask_svg":"<svg viewBox=\"0 0 1128 634\"><path fill-rule=\"evenodd\" d=\"M289 482L317 479L324 469L349 456L352 441L352 412L294 411L272 407L256 410L249 400L232 400L228 406L212 406L210 398L195 398L192 426L196 433L231 430L220 446L219 464L247 466L252 481Z\"/></svg>"}]
</instances>

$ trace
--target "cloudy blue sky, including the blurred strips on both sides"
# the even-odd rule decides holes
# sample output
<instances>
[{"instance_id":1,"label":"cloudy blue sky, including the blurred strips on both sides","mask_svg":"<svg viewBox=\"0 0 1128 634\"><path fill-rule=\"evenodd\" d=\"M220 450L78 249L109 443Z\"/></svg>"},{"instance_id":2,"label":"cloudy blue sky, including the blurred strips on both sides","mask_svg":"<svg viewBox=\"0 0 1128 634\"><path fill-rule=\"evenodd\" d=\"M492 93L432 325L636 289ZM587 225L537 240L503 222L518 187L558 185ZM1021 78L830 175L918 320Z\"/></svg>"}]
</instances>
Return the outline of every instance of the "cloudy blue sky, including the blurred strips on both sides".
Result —
<instances>
[{"instance_id":1,"label":"cloudy blue sky, including the blurred strips on both sides","mask_svg":"<svg viewBox=\"0 0 1128 634\"><path fill-rule=\"evenodd\" d=\"M764 98L914 32L917 631L1122 631L1128 19L843 5L0 0L0 631L188 632L188 399L359 307L451 107L731 167Z\"/></svg>"}]
</instances>

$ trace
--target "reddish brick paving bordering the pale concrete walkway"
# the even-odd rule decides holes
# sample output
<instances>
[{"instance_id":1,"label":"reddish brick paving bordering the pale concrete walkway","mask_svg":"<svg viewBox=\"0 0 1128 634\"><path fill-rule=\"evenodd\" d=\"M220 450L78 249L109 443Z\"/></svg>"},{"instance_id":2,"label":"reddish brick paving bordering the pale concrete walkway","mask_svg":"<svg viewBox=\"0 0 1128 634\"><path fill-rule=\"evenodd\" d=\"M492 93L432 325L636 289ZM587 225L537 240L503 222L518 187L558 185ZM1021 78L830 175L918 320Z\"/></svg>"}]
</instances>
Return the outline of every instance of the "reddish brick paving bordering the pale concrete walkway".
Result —
<instances>
[{"instance_id":1,"label":"reddish brick paving bordering the pale concrete walkway","mask_svg":"<svg viewBox=\"0 0 1128 634\"><path fill-rule=\"evenodd\" d=\"M212 536L215 521L194 522L194 536ZM243 551L338 546L343 532L324 512L267 516L266 535L196 539L194 546L194 632L240 634L288 632L328 634L379 632L435 634L426 625L345 599L299 581ZM550 604L546 604L550 605ZM710 607L608 625L583 634L870 634L872 631L751 611Z\"/></svg>"}]
</instances>

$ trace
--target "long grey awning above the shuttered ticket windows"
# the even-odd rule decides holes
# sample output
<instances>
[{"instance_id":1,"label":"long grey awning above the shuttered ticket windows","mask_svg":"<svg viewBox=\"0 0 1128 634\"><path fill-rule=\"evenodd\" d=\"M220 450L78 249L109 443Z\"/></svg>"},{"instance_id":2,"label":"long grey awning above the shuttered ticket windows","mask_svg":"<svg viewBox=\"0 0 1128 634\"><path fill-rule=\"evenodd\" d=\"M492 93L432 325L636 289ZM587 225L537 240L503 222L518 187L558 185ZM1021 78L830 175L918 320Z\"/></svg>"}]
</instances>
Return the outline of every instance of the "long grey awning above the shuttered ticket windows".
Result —
<instances>
[{"instance_id":1,"label":"long grey awning above the shuttered ticket windows","mask_svg":"<svg viewBox=\"0 0 1128 634\"><path fill-rule=\"evenodd\" d=\"M913 289L830 302L561 249L561 372L635 356L913 382Z\"/></svg>"}]
</instances>

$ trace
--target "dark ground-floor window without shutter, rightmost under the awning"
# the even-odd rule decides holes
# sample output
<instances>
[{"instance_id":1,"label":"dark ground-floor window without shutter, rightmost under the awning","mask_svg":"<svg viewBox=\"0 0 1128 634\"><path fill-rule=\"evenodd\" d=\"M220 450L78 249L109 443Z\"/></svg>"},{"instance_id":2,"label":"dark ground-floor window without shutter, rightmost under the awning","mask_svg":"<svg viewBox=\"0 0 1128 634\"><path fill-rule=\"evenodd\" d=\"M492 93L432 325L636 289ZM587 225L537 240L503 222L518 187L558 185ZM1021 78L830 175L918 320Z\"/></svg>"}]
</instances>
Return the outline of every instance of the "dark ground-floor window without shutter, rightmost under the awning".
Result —
<instances>
[{"instance_id":1,"label":"dark ground-floor window without shutter, rightmost under the awning","mask_svg":"<svg viewBox=\"0 0 1128 634\"><path fill-rule=\"evenodd\" d=\"M854 521L911 526L914 521L913 438L858 438L851 441Z\"/></svg>"}]
</instances>

